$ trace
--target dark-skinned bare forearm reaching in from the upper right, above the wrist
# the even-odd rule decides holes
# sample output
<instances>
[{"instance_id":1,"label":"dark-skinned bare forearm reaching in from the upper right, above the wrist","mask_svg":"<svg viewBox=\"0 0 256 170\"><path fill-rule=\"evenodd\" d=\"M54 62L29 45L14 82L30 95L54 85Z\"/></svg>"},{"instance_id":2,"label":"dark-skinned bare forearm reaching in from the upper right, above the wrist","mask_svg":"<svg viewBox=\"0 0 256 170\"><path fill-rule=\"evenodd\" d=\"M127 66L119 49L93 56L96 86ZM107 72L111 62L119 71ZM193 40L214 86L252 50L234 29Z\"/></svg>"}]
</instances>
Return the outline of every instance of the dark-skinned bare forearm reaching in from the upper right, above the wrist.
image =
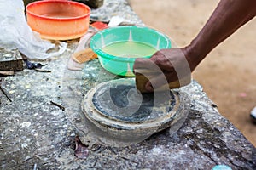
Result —
<instances>
[{"instance_id":1,"label":"dark-skinned bare forearm reaching in from the upper right, above the wrist","mask_svg":"<svg viewBox=\"0 0 256 170\"><path fill-rule=\"evenodd\" d=\"M256 15L256 0L221 0L195 39L183 48L191 71L220 42Z\"/></svg>"}]
</instances>

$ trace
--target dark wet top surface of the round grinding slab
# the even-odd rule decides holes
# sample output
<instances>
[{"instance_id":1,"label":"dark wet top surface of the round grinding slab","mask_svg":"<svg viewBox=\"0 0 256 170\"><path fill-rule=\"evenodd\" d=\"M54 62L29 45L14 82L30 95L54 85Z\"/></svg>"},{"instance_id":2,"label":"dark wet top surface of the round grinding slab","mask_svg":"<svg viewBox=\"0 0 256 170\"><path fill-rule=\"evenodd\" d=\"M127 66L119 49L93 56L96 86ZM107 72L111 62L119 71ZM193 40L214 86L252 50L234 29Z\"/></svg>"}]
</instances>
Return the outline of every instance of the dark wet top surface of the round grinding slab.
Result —
<instances>
[{"instance_id":1,"label":"dark wet top surface of the round grinding slab","mask_svg":"<svg viewBox=\"0 0 256 170\"><path fill-rule=\"evenodd\" d=\"M172 111L176 99L175 94L170 92L166 101L155 101L154 94L140 94L131 80L122 80L122 83L113 81L102 84L93 95L92 103L108 119L139 123L153 121Z\"/></svg>"}]
</instances>

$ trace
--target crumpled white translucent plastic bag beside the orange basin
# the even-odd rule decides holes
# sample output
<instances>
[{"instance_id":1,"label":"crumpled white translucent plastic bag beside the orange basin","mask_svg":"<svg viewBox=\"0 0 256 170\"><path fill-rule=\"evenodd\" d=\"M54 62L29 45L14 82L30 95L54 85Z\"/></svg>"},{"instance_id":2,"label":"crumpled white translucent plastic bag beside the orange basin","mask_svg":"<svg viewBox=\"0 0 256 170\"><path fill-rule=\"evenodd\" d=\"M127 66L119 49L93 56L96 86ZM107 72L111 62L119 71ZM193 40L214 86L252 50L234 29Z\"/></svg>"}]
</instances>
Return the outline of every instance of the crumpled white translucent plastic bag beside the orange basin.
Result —
<instances>
[{"instance_id":1,"label":"crumpled white translucent plastic bag beside the orange basin","mask_svg":"<svg viewBox=\"0 0 256 170\"><path fill-rule=\"evenodd\" d=\"M67 43L60 42L59 50L46 53L55 44L43 40L27 25L22 0L0 0L0 47L19 49L29 59L48 59L62 54Z\"/></svg>"}]
</instances>

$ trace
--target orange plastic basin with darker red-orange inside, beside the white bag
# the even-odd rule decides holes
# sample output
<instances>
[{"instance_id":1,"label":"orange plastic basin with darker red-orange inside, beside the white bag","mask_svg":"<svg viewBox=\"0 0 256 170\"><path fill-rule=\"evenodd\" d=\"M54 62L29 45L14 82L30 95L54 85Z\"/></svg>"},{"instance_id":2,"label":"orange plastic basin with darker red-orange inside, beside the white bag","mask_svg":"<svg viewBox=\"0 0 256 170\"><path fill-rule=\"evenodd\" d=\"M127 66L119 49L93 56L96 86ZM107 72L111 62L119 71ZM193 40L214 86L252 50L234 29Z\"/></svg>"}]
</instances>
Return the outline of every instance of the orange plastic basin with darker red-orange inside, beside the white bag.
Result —
<instances>
[{"instance_id":1,"label":"orange plastic basin with darker red-orange inside, beside the white bag","mask_svg":"<svg viewBox=\"0 0 256 170\"><path fill-rule=\"evenodd\" d=\"M88 31L90 8L67 0L38 1L26 6L26 20L42 38L75 39Z\"/></svg>"}]
</instances>

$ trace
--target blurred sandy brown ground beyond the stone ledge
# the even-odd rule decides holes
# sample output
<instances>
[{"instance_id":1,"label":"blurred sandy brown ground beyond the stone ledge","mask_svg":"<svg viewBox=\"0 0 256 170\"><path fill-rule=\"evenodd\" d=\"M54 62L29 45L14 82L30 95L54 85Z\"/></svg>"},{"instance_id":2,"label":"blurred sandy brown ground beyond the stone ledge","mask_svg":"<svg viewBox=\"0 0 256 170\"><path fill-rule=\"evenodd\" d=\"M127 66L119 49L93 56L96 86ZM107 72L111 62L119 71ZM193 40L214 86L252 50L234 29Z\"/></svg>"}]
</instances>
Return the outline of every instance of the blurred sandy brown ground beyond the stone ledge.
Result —
<instances>
[{"instance_id":1,"label":"blurred sandy brown ground beyond the stone ledge","mask_svg":"<svg viewBox=\"0 0 256 170\"><path fill-rule=\"evenodd\" d=\"M147 26L166 33L178 47L201 30L218 1L129 0ZM256 146L256 124L250 111L256 106L256 19L213 49L193 72L218 111Z\"/></svg>"}]
</instances>

